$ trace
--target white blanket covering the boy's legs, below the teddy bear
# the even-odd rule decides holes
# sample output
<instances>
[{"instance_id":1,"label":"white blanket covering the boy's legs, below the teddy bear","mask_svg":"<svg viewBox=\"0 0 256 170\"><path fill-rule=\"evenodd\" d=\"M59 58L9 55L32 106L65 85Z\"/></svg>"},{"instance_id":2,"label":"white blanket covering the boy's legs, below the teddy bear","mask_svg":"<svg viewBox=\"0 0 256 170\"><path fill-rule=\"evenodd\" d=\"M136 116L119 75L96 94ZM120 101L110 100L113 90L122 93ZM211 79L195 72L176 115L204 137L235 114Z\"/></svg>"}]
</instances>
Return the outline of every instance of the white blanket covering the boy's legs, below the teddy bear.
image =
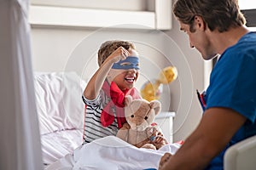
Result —
<instances>
[{"instance_id":1,"label":"white blanket covering the boy's legs, below the teddy bear","mask_svg":"<svg viewBox=\"0 0 256 170\"><path fill-rule=\"evenodd\" d=\"M160 150L139 149L117 137L108 136L79 146L73 154L68 154L55 161L46 167L46 170L157 169L160 157L165 152L174 154L179 147L180 144L166 144Z\"/></svg>"}]
</instances>

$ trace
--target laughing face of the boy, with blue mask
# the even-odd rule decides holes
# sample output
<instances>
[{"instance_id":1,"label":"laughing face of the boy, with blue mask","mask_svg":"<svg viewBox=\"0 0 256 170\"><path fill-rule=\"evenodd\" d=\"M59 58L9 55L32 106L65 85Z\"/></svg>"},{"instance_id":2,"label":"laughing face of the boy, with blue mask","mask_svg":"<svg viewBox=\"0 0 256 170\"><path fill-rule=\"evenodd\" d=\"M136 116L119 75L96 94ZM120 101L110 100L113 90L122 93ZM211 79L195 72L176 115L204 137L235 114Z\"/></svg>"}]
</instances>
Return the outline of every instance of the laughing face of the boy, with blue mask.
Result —
<instances>
[{"instance_id":1,"label":"laughing face of the boy, with blue mask","mask_svg":"<svg viewBox=\"0 0 256 170\"><path fill-rule=\"evenodd\" d=\"M137 51L129 52L131 55L113 65L108 73L108 82L115 82L121 90L133 88L139 74Z\"/></svg>"}]
</instances>

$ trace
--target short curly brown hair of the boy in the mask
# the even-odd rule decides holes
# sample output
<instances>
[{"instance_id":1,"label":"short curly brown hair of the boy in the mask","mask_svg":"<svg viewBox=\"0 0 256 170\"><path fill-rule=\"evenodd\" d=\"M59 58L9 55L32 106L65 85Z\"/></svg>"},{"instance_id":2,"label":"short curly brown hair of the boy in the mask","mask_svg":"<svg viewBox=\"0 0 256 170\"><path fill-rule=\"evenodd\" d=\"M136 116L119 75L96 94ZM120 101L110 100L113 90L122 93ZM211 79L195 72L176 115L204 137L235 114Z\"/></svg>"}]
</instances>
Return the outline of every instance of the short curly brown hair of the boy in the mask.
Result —
<instances>
[{"instance_id":1,"label":"short curly brown hair of the boy in the mask","mask_svg":"<svg viewBox=\"0 0 256 170\"><path fill-rule=\"evenodd\" d=\"M136 49L135 45L132 42L112 40L103 42L101 48L98 50L98 65L101 66L105 59L108 58L114 50L122 46L125 49Z\"/></svg>"}]
</instances>

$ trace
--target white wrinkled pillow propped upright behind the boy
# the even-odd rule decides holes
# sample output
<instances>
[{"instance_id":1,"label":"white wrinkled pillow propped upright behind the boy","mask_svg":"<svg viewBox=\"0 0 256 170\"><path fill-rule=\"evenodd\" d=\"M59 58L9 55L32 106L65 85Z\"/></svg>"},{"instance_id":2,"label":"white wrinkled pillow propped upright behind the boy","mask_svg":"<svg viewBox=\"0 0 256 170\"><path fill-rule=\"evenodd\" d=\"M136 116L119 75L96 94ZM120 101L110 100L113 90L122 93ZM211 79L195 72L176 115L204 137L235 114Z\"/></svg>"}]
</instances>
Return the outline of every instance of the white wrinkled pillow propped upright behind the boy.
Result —
<instances>
[{"instance_id":1,"label":"white wrinkled pillow propped upright behind the boy","mask_svg":"<svg viewBox=\"0 0 256 170\"><path fill-rule=\"evenodd\" d=\"M35 73L40 133L83 128L86 83L75 72Z\"/></svg>"}]
</instances>

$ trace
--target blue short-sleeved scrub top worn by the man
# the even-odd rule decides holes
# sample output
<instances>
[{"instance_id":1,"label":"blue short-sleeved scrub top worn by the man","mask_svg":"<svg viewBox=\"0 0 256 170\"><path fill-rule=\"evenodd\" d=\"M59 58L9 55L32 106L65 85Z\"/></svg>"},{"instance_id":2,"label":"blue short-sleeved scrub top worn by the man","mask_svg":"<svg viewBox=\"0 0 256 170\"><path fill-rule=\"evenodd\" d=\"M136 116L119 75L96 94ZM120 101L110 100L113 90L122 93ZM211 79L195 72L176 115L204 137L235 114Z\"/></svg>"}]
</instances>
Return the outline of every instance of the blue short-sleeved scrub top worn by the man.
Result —
<instances>
[{"instance_id":1,"label":"blue short-sleeved scrub top worn by the man","mask_svg":"<svg viewBox=\"0 0 256 170\"><path fill-rule=\"evenodd\" d=\"M205 108L225 107L237 111L247 122L236 132L226 148L207 170L224 168L224 152L231 145L256 134L256 34L247 33L227 48L214 66L210 85L202 99Z\"/></svg>"}]
</instances>

